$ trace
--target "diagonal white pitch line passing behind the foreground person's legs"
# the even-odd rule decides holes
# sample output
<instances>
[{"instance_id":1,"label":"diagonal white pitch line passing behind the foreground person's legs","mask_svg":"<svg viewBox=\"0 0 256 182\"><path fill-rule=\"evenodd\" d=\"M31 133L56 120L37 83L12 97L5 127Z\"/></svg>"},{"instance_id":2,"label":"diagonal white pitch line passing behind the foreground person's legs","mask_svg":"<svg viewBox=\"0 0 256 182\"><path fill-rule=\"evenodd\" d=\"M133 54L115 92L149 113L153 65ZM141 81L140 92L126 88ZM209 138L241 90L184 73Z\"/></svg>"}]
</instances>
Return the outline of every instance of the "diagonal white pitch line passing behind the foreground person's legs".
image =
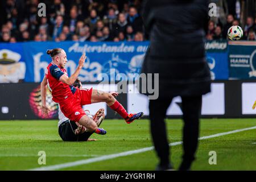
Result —
<instances>
[{"instance_id":1,"label":"diagonal white pitch line passing behind the foreground person's legs","mask_svg":"<svg viewBox=\"0 0 256 182\"><path fill-rule=\"evenodd\" d=\"M253 130L253 129L256 129L256 126L248 127L246 129L228 131L228 132L225 132L225 133L218 133L218 134L209 135L209 136L206 136L206 137L200 137L199 140L214 138L214 137L220 137L220 136L223 136L223 135L229 135L229 134L238 133L238 132L246 131L246 130ZM182 142L173 142L173 143L170 143L169 146L176 146L176 145L179 145L179 144L182 144ZM67 168L67 167L80 166L80 165L83 165L83 164L100 162L102 160L114 159L114 158L118 158L118 157L121 157L121 156L138 154L138 153L141 153L141 152L146 152L146 151L151 151L151 150L154 150L153 146L152 147L141 148L141 149L138 149L138 150L131 150L131 151L126 151L126 152L121 152L121 153L117 153L117 154L102 155L102 156L92 158L92 159L77 160L75 162L69 162L69 163L56 164L56 165L47 166L47 167L39 167L39 168L29 169L29 171L50 171L50 170L56 170L56 169L63 169L63 168Z\"/></svg>"}]
</instances>

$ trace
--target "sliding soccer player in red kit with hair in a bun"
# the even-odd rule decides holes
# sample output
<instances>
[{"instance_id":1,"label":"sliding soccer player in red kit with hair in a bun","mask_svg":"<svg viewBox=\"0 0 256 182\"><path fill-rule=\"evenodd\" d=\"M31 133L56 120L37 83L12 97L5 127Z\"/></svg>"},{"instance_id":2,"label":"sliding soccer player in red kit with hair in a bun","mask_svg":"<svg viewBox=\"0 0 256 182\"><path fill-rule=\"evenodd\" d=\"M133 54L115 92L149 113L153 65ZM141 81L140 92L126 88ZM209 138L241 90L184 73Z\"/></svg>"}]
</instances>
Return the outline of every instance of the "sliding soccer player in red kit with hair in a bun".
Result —
<instances>
[{"instance_id":1,"label":"sliding soccer player in red kit with hair in a bun","mask_svg":"<svg viewBox=\"0 0 256 182\"><path fill-rule=\"evenodd\" d=\"M46 89L47 85L52 92L52 100L59 103L60 109L65 117L72 121L79 122L85 126L89 132L97 134L106 134L104 129L97 127L96 123L90 119L82 109L82 105L93 104L97 102L106 102L106 104L121 115L127 123L131 123L134 119L141 118L143 113L128 114L125 108L115 100L112 93L102 92L96 89L77 89L73 86L86 59L85 53L80 57L79 66L75 73L68 77L64 68L67 63L67 55L61 48L47 50L51 56L52 62L48 65L46 74L41 83L42 110L48 114L46 105Z\"/></svg>"}]
</instances>

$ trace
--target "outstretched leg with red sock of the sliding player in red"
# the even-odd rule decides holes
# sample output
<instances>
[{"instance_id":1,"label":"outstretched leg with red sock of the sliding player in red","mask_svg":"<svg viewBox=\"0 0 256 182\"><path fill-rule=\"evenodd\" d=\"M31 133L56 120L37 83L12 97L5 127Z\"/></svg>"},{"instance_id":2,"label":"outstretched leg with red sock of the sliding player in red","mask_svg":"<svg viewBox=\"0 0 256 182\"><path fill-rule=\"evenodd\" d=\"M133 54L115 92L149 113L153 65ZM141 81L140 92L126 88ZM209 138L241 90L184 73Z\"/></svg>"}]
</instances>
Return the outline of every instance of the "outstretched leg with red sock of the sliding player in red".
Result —
<instances>
[{"instance_id":1,"label":"outstretched leg with red sock of the sliding player in red","mask_svg":"<svg viewBox=\"0 0 256 182\"><path fill-rule=\"evenodd\" d=\"M103 92L101 90L92 90L91 103L106 102L106 104L116 111L127 123L131 123L134 119L141 118L143 113L128 114L125 108L114 98L111 93Z\"/></svg>"}]
</instances>

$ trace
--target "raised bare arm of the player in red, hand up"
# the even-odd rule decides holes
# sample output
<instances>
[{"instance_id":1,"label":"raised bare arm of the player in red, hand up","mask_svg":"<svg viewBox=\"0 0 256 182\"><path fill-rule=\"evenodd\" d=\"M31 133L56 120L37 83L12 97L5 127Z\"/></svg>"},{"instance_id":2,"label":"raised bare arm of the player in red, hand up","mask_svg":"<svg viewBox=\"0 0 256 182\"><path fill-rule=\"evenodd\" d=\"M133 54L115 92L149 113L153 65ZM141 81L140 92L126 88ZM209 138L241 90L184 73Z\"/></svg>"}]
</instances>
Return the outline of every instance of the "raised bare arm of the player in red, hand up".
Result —
<instances>
[{"instance_id":1,"label":"raised bare arm of the player in red, hand up","mask_svg":"<svg viewBox=\"0 0 256 182\"><path fill-rule=\"evenodd\" d=\"M73 85L73 83L76 81L77 77L79 76L79 73L82 69L82 67L84 66L84 61L86 59L85 53L80 57L79 60L79 66L76 68L75 73L73 73L73 75L71 75L71 77L68 77L67 75L62 75L60 77L60 81L64 82L65 84L68 85Z\"/></svg>"}]
</instances>

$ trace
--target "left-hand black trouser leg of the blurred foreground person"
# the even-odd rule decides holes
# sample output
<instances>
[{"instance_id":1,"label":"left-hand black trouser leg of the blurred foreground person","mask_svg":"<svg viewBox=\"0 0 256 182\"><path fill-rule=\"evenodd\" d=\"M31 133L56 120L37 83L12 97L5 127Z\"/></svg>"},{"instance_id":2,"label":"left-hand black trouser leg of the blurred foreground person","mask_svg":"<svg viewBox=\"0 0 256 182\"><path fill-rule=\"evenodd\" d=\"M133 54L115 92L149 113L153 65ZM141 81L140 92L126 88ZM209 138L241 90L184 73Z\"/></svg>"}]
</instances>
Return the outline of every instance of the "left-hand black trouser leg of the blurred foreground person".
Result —
<instances>
[{"instance_id":1,"label":"left-hand black trouser leg of the blurred foreground person","mask_svg":"<svg viewBox=\"0 0 256 182\"><path fill-rule=\"evenodd\" d=\"M171 104L170 99L150 100L150 127L152 140L154 142L156 153L160 159L157 170L166 170L172 168L169 160L169 145L166 132L166 111Z\"/></svg>"}]
</instances>

